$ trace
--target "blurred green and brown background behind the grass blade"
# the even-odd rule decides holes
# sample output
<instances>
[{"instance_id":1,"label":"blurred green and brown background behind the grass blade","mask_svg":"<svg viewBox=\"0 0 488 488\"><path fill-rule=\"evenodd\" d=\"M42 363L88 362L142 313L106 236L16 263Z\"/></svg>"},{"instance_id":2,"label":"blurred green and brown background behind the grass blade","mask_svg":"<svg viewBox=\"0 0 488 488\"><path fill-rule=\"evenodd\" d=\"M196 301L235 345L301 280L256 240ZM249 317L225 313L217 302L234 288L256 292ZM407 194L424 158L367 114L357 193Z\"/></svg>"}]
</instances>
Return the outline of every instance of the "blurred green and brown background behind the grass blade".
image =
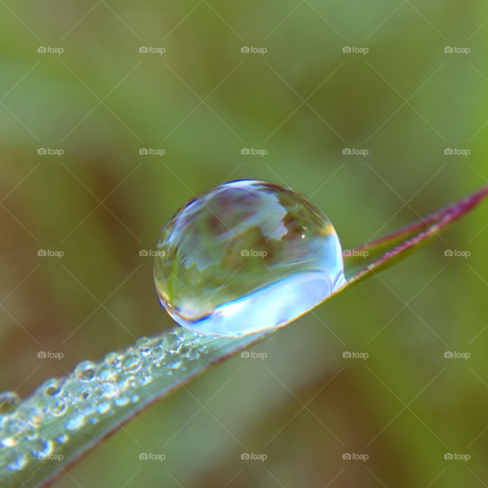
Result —
<instances>
[{"instance_id":1,"label":"blurred green and brown background behind the grass blade","mask_svg":"<svg viewBox=\"0 0 488 488\"><path fill-rule=\"evenodd\" d=\"M346 248L486 181L485 2L0 4L2 390L172 326L139 252L223 181L312 197ZM484 206L255 346L264 360L231 358L151 406L54 486L486 486L487 241Z\"/></svg>"}]
</instances>

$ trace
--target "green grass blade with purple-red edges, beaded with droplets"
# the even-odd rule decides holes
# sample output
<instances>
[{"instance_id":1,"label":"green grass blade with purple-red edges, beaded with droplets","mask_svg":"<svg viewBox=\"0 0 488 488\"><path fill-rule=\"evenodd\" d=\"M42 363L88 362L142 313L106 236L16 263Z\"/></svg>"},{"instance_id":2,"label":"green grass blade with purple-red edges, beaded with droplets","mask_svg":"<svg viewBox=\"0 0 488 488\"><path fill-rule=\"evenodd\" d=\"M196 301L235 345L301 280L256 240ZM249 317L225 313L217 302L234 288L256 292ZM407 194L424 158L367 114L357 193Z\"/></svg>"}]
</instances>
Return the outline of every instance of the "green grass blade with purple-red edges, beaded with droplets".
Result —
<instances>
[{"instance_id":1,"label":"green grass blade with purple-red edges, beaded with droplets","mask_svg":"<svg viewBox=\"0 0 488 488\"><path fill-rule=\"evenodd\" d=\"M487 195L483 187L420 222L346 252L348 282L333 295L417 250ZM50 484L151 403L271 333L214 338L175 327L109 353L98 364L80 363L72 374L48 380L14 408L7 409L5 402L4 411L0 406L0 486Z\"/></svg>"}]
</instances>

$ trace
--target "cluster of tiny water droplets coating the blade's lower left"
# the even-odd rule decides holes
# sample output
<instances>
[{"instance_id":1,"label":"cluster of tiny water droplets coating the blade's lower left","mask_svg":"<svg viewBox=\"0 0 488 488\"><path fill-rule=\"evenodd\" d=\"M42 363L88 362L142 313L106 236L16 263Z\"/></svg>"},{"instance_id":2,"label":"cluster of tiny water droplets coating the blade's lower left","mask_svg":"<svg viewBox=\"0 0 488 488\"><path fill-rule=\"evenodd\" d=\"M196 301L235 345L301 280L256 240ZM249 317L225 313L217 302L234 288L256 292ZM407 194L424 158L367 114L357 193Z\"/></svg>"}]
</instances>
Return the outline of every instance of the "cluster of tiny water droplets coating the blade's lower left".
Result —
<instances>
[{"instance_id":1,"label":"cluster of tiny water droplets coating the blade's lower left","mask_svg":"<svg viewBox=\"0 0 488 488\"><path fill-rule=\"evenodd\" d=\"M139 388L185 370L183 363L208 352L201 335L182 328L171 332L155 339L141 338L125 351L107 354L98 364L83 361L69 376L45 381L24 402L15 393L0 393L3 469L19 471L33 460L50 459L84 426L139 402ZM46 429L53 422L62 429ZM59 432L43 435L53 431Z\"/></svg>"}]
</instances>

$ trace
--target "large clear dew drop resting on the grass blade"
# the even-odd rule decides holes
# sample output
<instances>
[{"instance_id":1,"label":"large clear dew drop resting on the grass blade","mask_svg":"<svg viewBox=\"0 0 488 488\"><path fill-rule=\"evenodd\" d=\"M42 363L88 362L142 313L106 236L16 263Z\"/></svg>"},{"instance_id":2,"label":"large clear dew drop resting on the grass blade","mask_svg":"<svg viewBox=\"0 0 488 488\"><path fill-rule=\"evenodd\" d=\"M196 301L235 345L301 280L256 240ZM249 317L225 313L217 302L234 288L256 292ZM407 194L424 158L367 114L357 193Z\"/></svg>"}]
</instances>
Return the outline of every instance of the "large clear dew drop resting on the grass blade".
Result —
<instances>
[{"instance_id":1,"label":"large clear dew drop resting on the grass blade","mask_svg":"<svg viewBox=\"0 0 488 488\"><path fill-rule=\"evenodd\" d=\"M283 326L345 283L327 217L264 181L233 181L191 201L163 229L157 251L163 307L202 334Z\"/></svg>"}]
</instances>

